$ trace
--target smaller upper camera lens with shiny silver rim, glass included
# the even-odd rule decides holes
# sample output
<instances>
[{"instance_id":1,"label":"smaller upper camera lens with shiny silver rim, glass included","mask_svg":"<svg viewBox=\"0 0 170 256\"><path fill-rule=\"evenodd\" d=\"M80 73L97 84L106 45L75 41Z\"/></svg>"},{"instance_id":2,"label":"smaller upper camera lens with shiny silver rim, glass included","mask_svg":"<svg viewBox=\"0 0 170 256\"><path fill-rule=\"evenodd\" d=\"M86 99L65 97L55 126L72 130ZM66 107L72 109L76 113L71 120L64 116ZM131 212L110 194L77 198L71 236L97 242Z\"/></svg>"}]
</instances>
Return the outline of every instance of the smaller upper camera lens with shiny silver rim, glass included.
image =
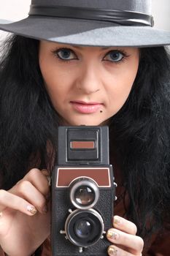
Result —
<instances>
[{"instance_id":1,"label":"smaller upper camera lens with shiny silver rim, glass included","mask_svg":"<svg viewBox=\"0 0 170 256\"><path fill-rule=\"evenodd\" d=\"M96 205L98 197L98 187L91 178L77 178L70 185L70 200L76 208L92 208Z\"/></svg>"}]
</instances>

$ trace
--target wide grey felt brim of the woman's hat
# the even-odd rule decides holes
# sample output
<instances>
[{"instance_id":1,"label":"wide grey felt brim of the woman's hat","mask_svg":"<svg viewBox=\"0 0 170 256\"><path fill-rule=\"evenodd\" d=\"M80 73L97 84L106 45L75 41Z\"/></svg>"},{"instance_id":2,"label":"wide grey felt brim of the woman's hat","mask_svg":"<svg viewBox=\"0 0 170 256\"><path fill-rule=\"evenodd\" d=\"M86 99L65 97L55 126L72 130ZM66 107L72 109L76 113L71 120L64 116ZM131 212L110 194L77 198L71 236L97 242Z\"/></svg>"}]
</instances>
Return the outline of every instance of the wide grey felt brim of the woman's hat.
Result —
<instances>
[{"instance_id":1,"label":"wide grey felt brim of the woman's hat","mask_svg":"<svg viewBox=\"0 0 170 256\"><path fill-rule=\"evenodd\" d=\"M101 25L102 24L102 25ZM153 47L170 45L170 31L150 26L120 26L92 20L29 16L0 29L24 37L84 46Z\"/></svg>"}]
</instances>

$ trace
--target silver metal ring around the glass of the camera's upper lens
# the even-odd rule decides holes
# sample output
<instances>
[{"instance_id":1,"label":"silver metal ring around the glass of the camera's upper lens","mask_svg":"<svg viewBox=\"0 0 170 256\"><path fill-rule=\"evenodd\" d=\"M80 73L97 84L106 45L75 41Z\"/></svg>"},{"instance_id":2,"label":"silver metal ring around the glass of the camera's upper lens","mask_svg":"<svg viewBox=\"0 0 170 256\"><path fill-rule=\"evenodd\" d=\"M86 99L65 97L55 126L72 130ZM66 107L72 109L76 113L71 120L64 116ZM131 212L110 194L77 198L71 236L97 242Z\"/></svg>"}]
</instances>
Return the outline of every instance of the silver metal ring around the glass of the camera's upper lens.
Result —
<instances>
[{"instance_id":1,"label":"silver metal ring around the glass of the camera's upper lens","mask_svg":"<svg viewBox=\"0 0 170 256\"><path fill-rule=\"evenodd\" d=\"M76 193L80 189L86 189L86 191L88 190L90 191L91 189L91 195L93 195L93 198L92 198L93 200L87 203L77 202ZM98 197L99 197L99 189L96 182L93 181L92 178L79 177L76 180L74 180L72 184L70 184L70 200L76 208L80 208L80 209L93 208L93 206L95 206L98 201Z\"/></svg>"}]
</instances>

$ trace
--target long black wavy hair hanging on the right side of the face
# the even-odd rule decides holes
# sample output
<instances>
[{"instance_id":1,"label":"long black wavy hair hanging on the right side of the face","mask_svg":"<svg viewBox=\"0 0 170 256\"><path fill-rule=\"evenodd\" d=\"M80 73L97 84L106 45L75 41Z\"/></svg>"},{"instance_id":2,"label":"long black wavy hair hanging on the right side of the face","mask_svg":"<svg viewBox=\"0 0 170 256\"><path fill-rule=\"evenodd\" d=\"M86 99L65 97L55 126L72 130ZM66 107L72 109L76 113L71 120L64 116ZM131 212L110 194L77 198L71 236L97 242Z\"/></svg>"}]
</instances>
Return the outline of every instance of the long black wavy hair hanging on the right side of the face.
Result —
<instances>
[{"instance_id":1,"label":"long black wavy hair hanging on the right side of the face","mask_svg":"<svg viewBox=\"0 0 170 256\"><path fill-rule=\"evenodd\" d=\"M126 215L140 236L158 230L170 210L170 59L163 47L140 49L139 70L112 117L112 154L130 197Z\"/></svg>"}]
</instances>

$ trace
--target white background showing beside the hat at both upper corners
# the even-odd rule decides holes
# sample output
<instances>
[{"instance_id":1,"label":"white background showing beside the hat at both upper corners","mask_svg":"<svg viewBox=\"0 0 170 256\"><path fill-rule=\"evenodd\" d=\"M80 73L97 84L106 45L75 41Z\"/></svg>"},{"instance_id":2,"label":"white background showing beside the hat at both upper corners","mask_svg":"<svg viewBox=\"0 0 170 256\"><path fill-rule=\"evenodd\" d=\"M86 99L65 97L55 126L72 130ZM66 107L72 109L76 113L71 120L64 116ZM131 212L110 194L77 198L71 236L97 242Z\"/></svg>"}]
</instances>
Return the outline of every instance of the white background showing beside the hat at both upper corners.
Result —
<instances>
[{"instance_id":1,"label":"white background showing beside the hat at both upper corners","mask_svg":"<svg viewBox=\"0 0 170 256\"><path fill-rule=\"evenodd\" d=\"M30 4L31 0L0 0L0 20L26 18ZM155 20L155 28L170 31L170 0L152 0L152 15ZM7 33L0 31L0 41L6 35Z\"/></svg>"}]
</instances>

